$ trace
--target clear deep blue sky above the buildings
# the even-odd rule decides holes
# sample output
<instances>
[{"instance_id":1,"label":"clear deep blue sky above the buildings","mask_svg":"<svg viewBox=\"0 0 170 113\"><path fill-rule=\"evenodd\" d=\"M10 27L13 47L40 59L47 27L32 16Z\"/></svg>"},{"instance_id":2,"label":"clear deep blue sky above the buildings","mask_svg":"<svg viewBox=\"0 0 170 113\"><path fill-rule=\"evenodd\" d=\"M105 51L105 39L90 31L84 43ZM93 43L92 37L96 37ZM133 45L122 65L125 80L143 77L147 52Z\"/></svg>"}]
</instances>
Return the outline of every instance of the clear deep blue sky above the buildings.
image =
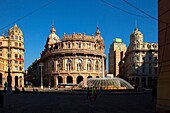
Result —
<instances>
[{"instance_id":1,"label":"clear deep blue sky above the buildings","mask_svg":"<svg viewBox=\"0 0 170 113\"><path fill-rule=\"evenodd\" d=\"M86 35L95 34L98 26L101 36L104 38L107 56L110 44L116 37L121 37L126 46L129 45L130 34L136 26L143 33L145 42L158 42L158 22L156 20L147 18L146 15L123 0L103 1L0 0L0 35L13 27L14 23L23 31L25 69L40 57L52 23L54 23L56 34L60 39L64 32L66 34L73 32L85 32ZM127 1L157 18L157 0ZM141 16L131 15L131 13Z\"/></svg>"}]
</instances>

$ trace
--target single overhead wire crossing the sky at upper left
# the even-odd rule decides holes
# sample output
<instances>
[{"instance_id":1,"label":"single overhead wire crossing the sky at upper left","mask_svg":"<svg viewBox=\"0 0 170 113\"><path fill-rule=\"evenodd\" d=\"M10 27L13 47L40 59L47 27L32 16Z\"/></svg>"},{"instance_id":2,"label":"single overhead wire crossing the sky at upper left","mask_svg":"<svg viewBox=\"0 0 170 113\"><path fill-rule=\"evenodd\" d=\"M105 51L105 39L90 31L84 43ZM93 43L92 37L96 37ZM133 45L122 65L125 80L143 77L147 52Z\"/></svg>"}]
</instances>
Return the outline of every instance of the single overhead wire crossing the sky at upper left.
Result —
<instances>
[{"instance_id":1,"label":"single overhead wire crossing the sky at upper left","mask_svg":"<svg viewBox=\"0 0 170 113\"><path fill-rule=\"evenodd\" d=\"M52 0L52 1L50 1L50 2L48 2L48 3L46 3L46 4L44 4L43 6L41 6L41 7L37 8L37 9L35 9L35 10L33 10L33 11L27 13L26 15L24 15L24 16L22 16L22 17L16 19L16 20L14 20L13 22L9 23L8 25L6 25L6 26L0 28L0 30L3 30L3 29L7 28L8 26L10 26L10 25L12 25L12 24L15 24L16 22L21 21L22 19L24 19L24 18L26 18L26 17L32 15L33 13L39 11L40 9L49 6L50 4L52 4L52 3L55 2L55 1L56 1L56 0Z\"/></svg>"}]
</instances>

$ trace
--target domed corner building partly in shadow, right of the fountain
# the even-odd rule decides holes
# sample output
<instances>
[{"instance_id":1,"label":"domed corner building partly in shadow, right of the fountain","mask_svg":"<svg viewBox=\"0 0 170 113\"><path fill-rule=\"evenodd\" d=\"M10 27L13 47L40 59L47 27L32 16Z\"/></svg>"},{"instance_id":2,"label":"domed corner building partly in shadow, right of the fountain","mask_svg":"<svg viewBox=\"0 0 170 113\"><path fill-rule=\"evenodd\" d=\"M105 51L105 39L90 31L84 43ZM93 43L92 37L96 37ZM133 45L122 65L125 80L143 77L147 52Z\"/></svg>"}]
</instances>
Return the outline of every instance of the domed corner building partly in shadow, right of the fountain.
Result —
<instances>
[{"instance_id":1,"label":"domed corner building partly in shadow, right of the fountain","mask_svg":"<svg viewBox=\"0 0 170 113\"><path fill-rule=\"evenodd\" d=\"M152 88L157 78L158 44L143 42L143 34L135 28L119 67L120 76L132 85Z\"/></svg>"}]
</instances>

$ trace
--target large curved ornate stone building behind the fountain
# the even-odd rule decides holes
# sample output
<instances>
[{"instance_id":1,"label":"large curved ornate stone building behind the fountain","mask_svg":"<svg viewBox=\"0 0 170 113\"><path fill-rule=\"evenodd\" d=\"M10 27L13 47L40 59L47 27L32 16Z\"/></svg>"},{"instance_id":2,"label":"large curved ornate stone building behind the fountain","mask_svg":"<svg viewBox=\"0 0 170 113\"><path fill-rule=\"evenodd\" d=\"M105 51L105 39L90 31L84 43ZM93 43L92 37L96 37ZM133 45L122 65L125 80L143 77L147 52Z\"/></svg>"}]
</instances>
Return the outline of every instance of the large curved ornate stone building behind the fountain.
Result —
<instances>
[{"instance_id":1,"label":"large curved ornate stone building behind the fountain","mask_svg":"<svg viewBox=\"0 0 170 113\"><path fill-rule=\"evenodd\" d=\"M96 29L95 36L64 33L61 40L55 32L53 25L39 60L44 64L44 86L78 84L87 78L102 77L102 58L105 64L106 55L99 28Z\"/></svg>"}]
</instances>

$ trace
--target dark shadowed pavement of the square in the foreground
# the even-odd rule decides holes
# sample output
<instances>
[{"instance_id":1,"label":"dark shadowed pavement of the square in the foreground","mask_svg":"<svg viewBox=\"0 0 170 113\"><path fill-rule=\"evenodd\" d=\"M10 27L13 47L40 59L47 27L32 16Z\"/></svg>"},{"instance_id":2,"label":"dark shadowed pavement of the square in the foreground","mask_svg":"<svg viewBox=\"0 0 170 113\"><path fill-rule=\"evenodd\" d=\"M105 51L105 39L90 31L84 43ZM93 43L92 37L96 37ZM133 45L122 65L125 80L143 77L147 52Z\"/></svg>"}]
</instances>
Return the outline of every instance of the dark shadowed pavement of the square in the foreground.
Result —
<instances>
[{"instance_id":1,"label":"dark shadowed pavement of the square in the foreground","mask_svg":"<svg viewBox=\"0 0 170 113\"><path fill-rule=\"evenodd\" d=\"M86 94L61 92L4 94L0 113L155 113L151 94Z\"/></svg>"}]
</instances>

